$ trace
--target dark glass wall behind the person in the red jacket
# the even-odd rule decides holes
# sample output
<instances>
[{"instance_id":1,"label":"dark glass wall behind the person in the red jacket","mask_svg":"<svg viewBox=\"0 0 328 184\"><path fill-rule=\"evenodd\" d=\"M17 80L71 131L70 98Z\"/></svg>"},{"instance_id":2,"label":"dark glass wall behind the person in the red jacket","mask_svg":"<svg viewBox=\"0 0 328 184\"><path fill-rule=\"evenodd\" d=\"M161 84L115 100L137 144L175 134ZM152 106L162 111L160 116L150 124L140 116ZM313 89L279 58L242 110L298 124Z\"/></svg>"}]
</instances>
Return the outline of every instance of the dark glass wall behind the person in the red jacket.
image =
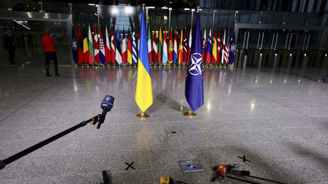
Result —
<instances>
[{"instance_id":1,"label":"dark glass wall behind the person in the red jacket","mask_svg":"<svg viewBox=\"0 0 328 184\"><path fill-rule=\"evenodd\" d=\"M0 20L0 29L1 43L3 43L4 36L9 30L14 34L16 42L15 63L31 63L43 66L45 56L41 47L41 37L44 35L44 30L48 29L56 41L55 50L58 64L71 64L67 23L64 21ZM10 63L9 52L4 48L4 44L1 44L0 54L3 58L0 63Z\"/></svg>"}]
</instances>

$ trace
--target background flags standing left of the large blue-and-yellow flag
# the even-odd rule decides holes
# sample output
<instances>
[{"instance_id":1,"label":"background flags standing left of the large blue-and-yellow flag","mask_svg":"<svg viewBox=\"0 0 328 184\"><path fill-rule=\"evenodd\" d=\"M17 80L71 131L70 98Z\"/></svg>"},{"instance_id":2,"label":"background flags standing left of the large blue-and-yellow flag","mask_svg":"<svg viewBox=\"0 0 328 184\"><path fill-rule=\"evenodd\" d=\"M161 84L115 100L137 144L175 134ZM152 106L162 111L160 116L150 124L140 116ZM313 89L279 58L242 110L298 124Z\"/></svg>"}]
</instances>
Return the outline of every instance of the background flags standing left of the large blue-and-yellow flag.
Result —
<instances>
[{"instance_id":1,"label":"background flags standing left of the large blue-and-yellow flag","mask_svg":"<svg viewBox=\"0 0 328 184\"><path fill-rule=\"evenodd\" d=\"M93 33L91 33L91 27L88 26L88 34L85 34L83 31L84 34L82 36L81 28L78 26L78 40L76 41L76 35L72 26L73 59L75 63L118 63L119 65L137 63L134 29L132 30L132 35L130 35L130 30L128 31L128 35L125 35L125 30L123 30L121 37L118 29L114 35L113 27L111 27L110 34L106 26L105 35L103 35L103 29L101 26L99 28L99 34L97 34L96 26L94 27Z\"/></svg>"}]
</instances>

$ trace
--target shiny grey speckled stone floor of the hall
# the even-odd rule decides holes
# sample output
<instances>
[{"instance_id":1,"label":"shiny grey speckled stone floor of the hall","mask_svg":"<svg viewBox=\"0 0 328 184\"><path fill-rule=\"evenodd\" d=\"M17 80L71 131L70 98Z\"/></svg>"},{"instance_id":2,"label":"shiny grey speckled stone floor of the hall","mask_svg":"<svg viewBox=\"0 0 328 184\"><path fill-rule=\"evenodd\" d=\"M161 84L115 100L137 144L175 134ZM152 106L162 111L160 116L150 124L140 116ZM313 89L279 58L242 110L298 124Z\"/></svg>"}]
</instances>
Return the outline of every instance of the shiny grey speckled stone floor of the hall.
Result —
<instances>
[{"instance_id":1,"label":"shiny grey speckled stone floor of the hall","mask_svg":"<svg viewBox=\"0 0 328 184\"><path fill-rule=\"evenodd\" d=\"M113 183L210 183L223 163L285 183L328 183L328 83L319 81L327 70L204 68L205 104L188 118L186 68L152 68L145 120L135 118L136 68L59 71L0 67L0 159L101 113L107 94L112 111L101 129L87 125L6 165L0 183L101 183L102 170ZM205 172L183 174L178 160L188 159Z\"/></svg>"}]
</instances>

